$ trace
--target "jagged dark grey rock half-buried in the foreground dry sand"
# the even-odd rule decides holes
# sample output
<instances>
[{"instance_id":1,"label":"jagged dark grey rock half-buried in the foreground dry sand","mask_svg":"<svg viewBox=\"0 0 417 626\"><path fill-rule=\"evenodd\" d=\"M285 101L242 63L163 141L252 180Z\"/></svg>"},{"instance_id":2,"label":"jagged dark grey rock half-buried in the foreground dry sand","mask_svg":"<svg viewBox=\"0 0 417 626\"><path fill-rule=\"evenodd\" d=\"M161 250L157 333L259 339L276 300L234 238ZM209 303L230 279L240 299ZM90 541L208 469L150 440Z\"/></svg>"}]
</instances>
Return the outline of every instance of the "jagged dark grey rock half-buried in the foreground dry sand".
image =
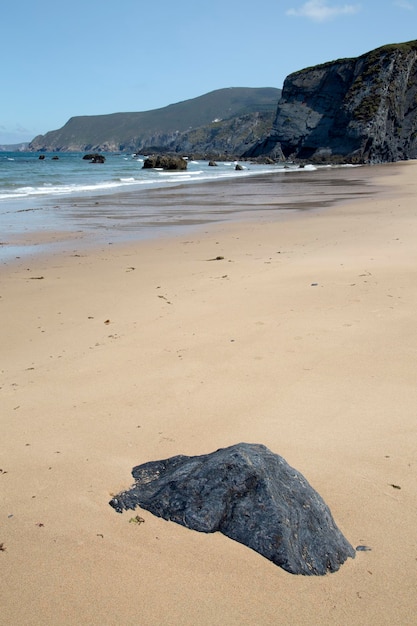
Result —
<instances>
[{"instance_id":1,"label":"jagged dark grey rock half-buried in the foreground dry sand","mask_svg":"<svg viewBox=\"0 0 417 626\"><path fill-rule=\"evenodd\" d=\"M115 496L119 513L140 506L201 532L219 531L287 572L335 572L355 551L307 480L259 444L175 456L132 470L135 485Z\"/></svg>"}]
</instances>

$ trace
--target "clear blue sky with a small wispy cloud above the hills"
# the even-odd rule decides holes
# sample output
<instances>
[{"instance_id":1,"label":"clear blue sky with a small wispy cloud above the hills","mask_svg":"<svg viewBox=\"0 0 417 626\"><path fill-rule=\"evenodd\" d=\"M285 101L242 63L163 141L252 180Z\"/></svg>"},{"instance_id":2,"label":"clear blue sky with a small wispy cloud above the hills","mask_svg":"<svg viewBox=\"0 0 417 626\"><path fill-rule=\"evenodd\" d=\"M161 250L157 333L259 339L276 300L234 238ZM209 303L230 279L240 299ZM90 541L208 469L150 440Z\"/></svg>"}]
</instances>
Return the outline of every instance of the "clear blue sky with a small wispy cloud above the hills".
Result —
<instances>
[{"instance_id":1,"label":"clear blue sky with a small wispy cloud above the hills","mask_svg":"<svg viewBox=\"0 0 417 626\"><path fill-rule=\"evenodd\" d=\"M417 39L417 0L4 0L0 144Z\"/></svg>"}]
</instances>

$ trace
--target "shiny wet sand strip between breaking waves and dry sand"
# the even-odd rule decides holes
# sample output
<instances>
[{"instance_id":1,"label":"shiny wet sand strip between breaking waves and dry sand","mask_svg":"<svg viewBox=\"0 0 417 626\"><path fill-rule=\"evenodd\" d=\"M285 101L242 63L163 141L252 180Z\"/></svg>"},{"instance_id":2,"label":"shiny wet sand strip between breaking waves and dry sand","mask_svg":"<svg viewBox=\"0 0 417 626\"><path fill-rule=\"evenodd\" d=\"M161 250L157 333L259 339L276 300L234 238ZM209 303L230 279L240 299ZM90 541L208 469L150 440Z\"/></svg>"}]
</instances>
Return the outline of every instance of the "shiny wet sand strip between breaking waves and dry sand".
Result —
<instances>
[{"instance_id":1,"label":"shiny wet sand strip between breaking waves and dry sand","mask_svg":"<svg viewBox=\"0 0 417 626\"><path fill-rule=\"evenodd\" d=\"M323 209L375 193L373 180L388 171L386 165L377 165L271 172L169 188L38 198L19 209L26 204L15 200L11 213L33 215L37 227L33 230L29 224L3 233L0 259L7 262L39 252L44 256L65 251L72 240L93 249L110 241L123 244L175 237L224 222Z\"/></svg>"}]
</instances>

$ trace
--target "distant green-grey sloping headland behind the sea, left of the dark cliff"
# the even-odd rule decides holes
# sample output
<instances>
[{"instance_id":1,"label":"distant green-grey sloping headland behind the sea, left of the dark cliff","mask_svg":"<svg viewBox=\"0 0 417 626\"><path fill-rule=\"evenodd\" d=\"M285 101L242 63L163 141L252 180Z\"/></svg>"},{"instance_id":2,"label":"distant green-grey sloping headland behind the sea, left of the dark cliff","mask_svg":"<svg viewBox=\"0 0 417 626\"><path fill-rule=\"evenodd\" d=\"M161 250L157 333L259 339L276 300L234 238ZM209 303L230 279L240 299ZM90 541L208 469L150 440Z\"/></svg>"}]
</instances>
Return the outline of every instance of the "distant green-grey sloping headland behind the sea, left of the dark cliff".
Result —
<instances>
[{"instance_id":1,"label":"distant green-grey sloping headland behind the sea, left of the dark cliff","mask_svg":"<svg viewBox=\"0 0 417 626\"><path fill-rule=\"evenodd\" d=\"M202 153L237 154L237 146L248 147L246 131L250 143L269 132L280 95L273 87L231 87L152 111L72 117L59 130L35 137L29 150L182 151L198 144Z\"/></svg>"}]
</instances>

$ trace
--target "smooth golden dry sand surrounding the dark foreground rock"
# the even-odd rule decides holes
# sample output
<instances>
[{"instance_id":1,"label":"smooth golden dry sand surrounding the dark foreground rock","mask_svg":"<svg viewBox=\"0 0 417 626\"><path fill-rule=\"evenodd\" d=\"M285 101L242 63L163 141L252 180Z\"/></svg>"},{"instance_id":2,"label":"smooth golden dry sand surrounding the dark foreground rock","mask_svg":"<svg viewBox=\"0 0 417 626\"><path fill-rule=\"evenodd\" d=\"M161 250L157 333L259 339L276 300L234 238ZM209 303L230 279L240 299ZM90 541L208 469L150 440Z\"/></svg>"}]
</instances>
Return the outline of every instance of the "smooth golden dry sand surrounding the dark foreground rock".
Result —
<instances>
[{"instance_id":1,"label":"smooth golden dry sand surrounding the dark foreground rock","mask_svg":"<svg viewBox=\"0 0 417 626\"><path fill-rule=\"evenodd\" d=\"M417 163L386 167L353 203L3 267L1 624L417 623ZM108 506L240 441L372 550L293 576Z\"/></svg>"}]
</instances>

